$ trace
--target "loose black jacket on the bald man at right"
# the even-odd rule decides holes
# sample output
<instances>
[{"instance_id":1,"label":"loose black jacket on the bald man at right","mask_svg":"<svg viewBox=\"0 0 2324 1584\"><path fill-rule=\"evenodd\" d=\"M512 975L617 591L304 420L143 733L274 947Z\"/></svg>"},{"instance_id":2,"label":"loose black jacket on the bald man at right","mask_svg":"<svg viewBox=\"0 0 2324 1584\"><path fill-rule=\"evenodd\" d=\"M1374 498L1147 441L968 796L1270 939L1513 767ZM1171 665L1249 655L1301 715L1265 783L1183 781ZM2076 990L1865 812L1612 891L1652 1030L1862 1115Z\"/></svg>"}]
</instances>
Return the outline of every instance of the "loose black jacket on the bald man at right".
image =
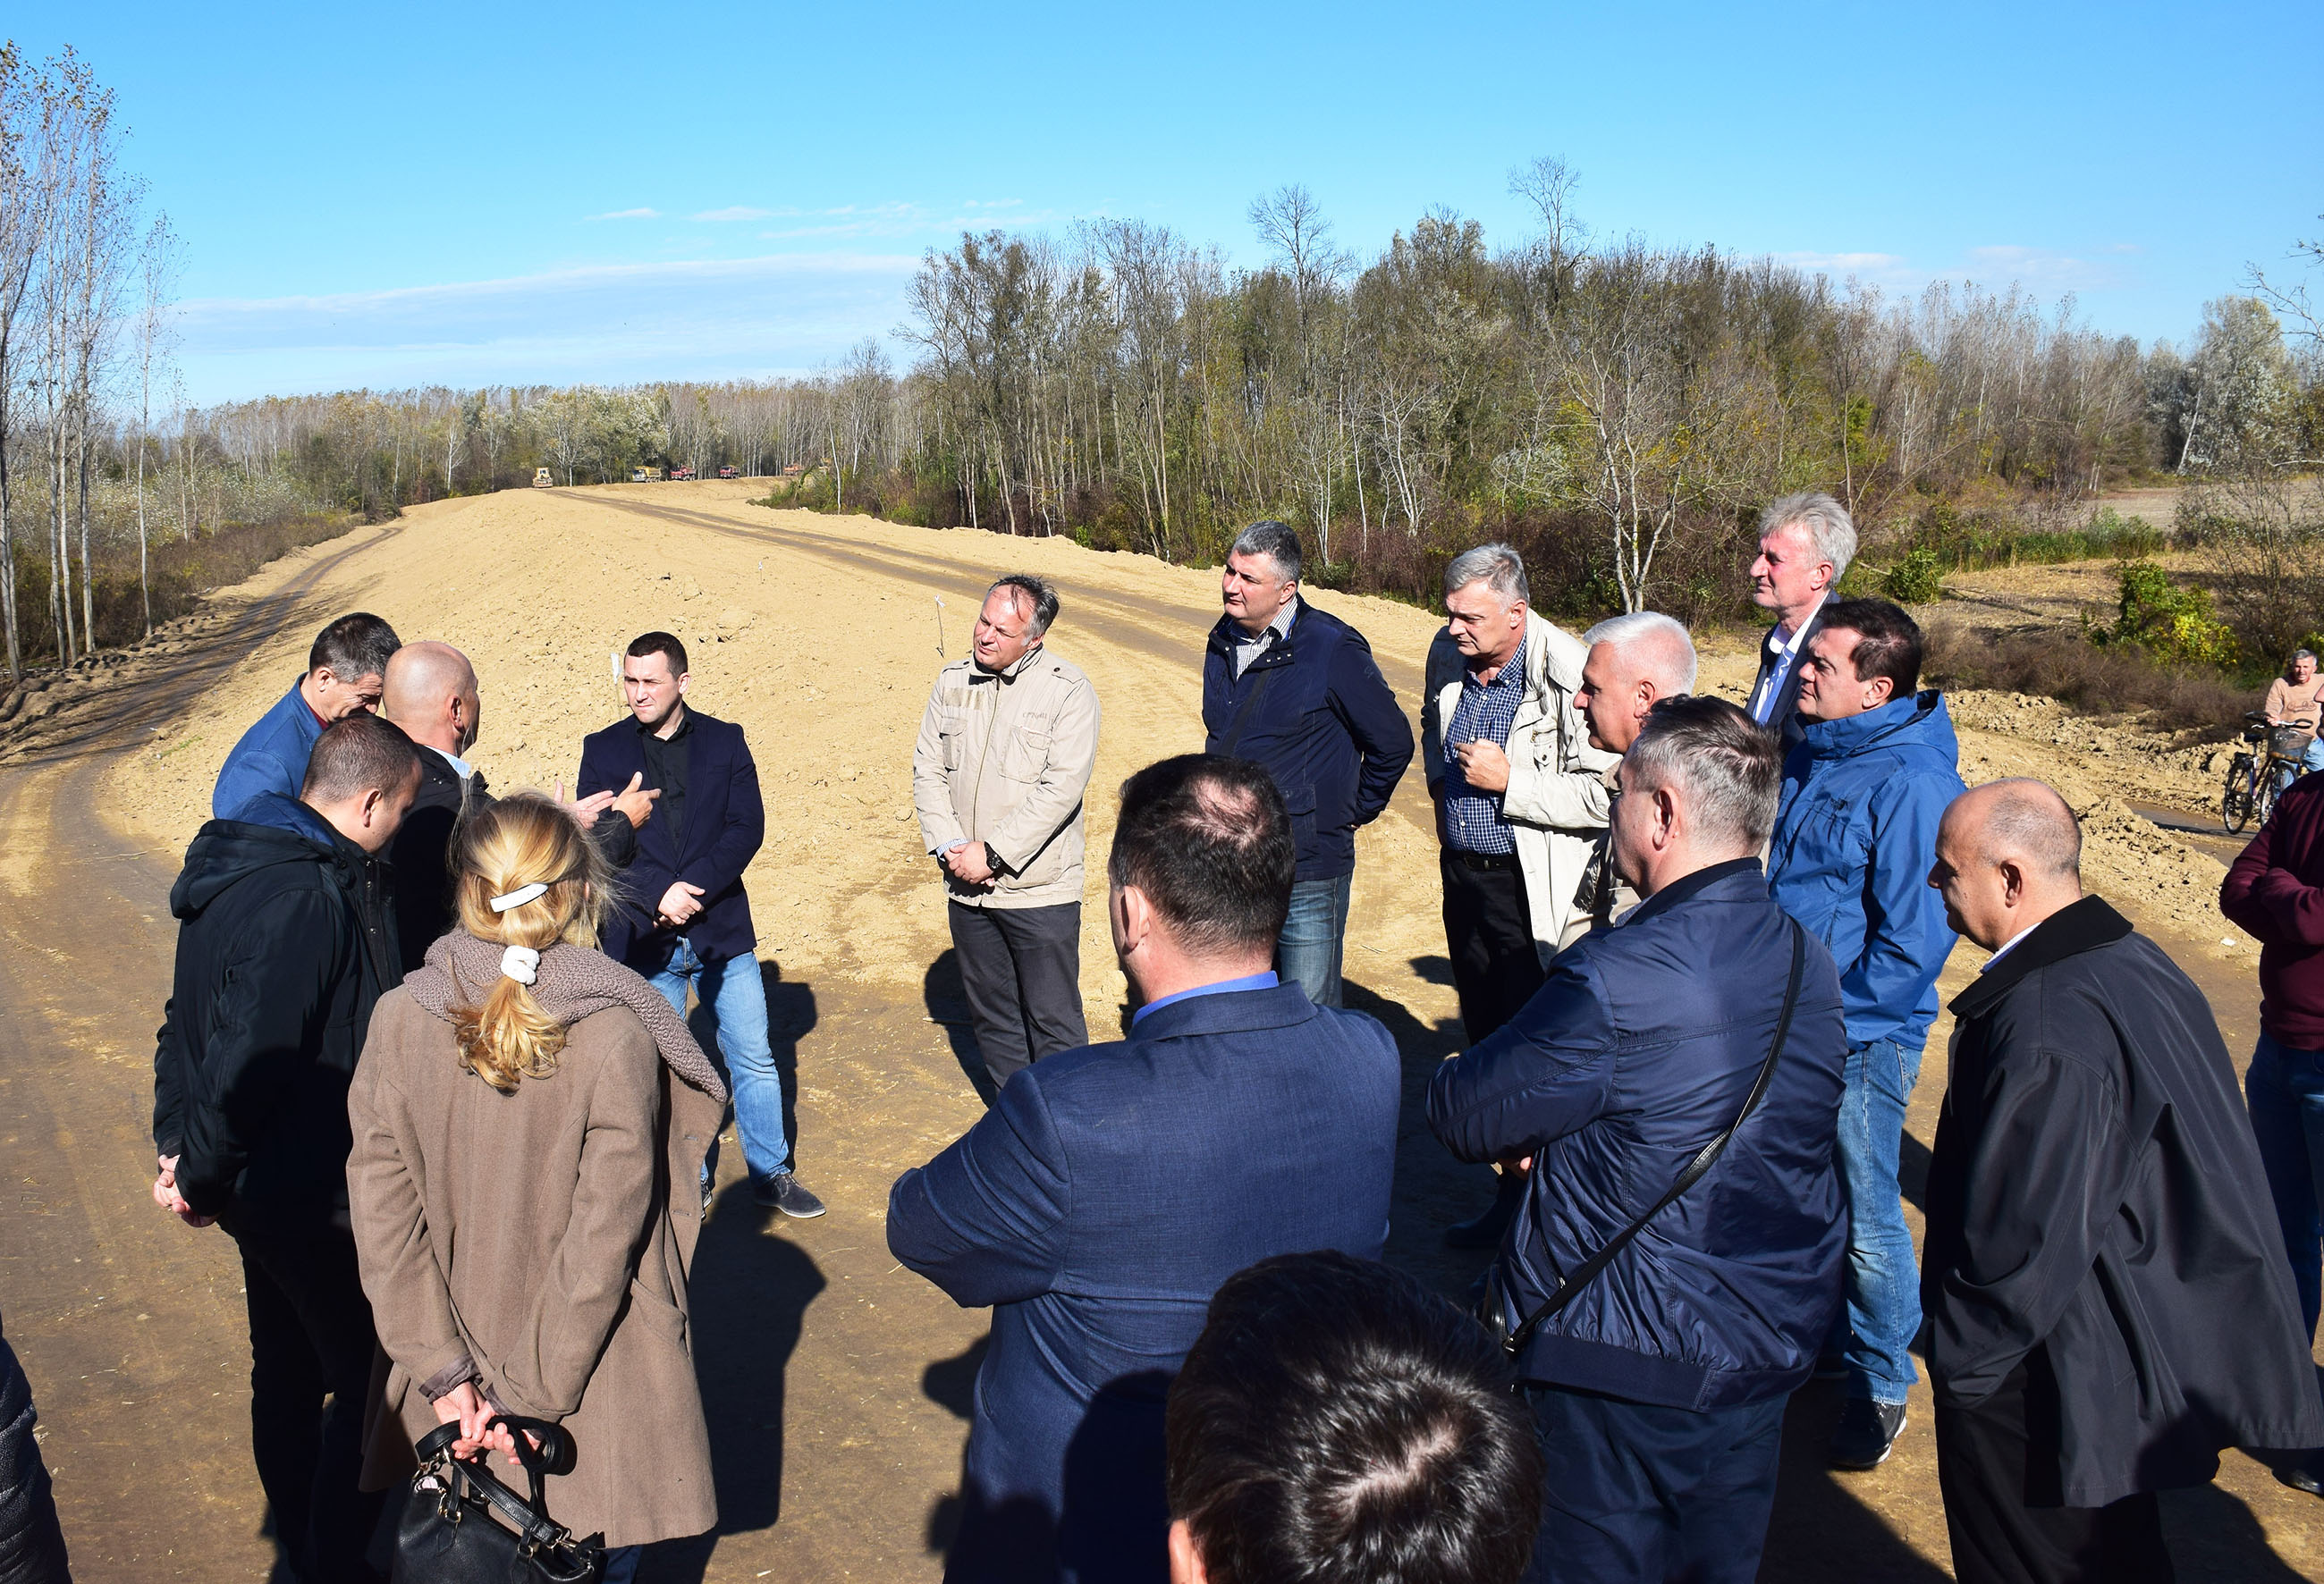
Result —
<instances>
[{"instance_id":1,"label":"loose black jacket on the bald man at right","mask_svg":"<svg viewBox=\"0 0 2324 1584\"><path fill-rule=\"evenodd\" d=\"M2259 1147L2203 992L2096 897L1952 999L1922 1252L1938 1403L2040 1347L2064 1500L2324 1442Z\"/></svg>"}]
</instances>

